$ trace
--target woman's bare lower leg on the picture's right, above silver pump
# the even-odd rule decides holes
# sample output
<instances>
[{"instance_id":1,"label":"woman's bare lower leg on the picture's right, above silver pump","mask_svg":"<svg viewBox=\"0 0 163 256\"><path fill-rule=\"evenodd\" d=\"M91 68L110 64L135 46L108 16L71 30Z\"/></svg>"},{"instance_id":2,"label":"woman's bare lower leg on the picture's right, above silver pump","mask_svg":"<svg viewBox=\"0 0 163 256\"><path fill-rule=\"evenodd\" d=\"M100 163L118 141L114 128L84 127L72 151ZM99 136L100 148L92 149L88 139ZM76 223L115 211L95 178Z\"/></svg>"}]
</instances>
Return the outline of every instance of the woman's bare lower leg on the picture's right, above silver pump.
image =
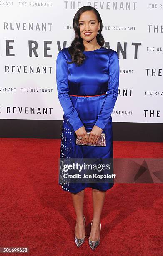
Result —
<instances>
[{"instance_id":1,"label":"woman's bare lower leg on the picture's right, above silver pump","mask_svg":"<svg viewBox=\"0 0 163 256\"><path fill-rule=\"evenodd\" d=\"M93 220L89 240L97 241L100 239L100 217L103 209L106 191L92 189L93 197Z\"/></svg>"}]
</instances>

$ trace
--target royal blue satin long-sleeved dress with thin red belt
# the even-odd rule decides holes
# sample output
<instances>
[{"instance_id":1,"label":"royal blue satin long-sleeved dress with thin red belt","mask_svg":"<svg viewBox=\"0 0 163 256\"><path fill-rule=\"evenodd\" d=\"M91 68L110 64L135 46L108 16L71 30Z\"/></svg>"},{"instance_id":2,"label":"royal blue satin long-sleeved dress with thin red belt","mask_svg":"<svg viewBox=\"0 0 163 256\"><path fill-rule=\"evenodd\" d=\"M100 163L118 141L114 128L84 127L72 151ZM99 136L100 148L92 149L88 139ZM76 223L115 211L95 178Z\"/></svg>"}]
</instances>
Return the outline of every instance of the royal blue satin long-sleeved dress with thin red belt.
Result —
<instances>
[{"instance_id":1,"label":"royal blue satin long-sleeved dress with thin red belt","mask_svg":"<svg viewBox=\"0 0 163 256\"><path fill-rule=\"evenodd\" d=\"M119 59L116 51L101 46L83 51L85 61L80 66L72 61L68 47L59 51L56 59L58 99L63 108L60 158L113 158L112 118L119 87ZM99 95L76 97L71 95ZM76 145L75 131L85 126L90 132L96 125L106 134L106 146ZM86 187L105 191L114 183L59 183L64 191L78 193Z\"/></svg>"}]
</instances>

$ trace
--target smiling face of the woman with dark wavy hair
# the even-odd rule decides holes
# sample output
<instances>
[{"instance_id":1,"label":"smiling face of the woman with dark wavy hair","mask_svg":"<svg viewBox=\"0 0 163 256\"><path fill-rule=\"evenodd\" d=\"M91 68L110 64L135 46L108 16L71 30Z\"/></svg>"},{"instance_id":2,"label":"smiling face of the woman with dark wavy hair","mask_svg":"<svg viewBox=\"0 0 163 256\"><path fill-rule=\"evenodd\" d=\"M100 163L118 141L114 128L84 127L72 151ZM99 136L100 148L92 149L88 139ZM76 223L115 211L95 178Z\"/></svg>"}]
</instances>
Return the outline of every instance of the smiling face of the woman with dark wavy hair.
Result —
<instances>
[{"instance_id":1,"label":"smiling face of the woman with dark wavy hair","mask_svg":"<svg viewBox=\"0 0 163 256\"><path fill-rule=\"evenodd\" d=\"M94 38L96 40L98 30L100 29L100 23L98 23L96 15L93 11L85 11L80 15L79 27L80 27L80 37L84 41L90 42ZM85 34L86 32L90 32L90 33L86 35Z\"/></svg>"}]
</instances>

